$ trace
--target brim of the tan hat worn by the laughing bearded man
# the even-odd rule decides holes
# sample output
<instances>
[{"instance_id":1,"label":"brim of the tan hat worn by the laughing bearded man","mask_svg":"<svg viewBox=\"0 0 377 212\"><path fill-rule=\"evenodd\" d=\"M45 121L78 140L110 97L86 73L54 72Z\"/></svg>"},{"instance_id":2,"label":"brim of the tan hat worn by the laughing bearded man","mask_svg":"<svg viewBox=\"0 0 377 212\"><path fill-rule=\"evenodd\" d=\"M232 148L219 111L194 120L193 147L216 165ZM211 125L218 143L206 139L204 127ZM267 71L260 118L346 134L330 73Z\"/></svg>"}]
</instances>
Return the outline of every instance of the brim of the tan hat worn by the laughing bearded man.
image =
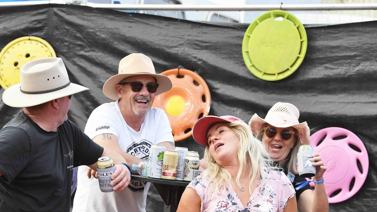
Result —
<instances>
[{"instance_id":1,"label":"brim of the tan hat worn by the laughing bearded man","mask_svg":"<svg viewBox=\"0 0 377 212\"><path fill-rule=\"evenodd\" d=\"M163 92L169 91L173 87L172 80L169 77L162 74L150 74L150 73L135 73L135 74L116 74L110 77L103 85L103 94L112 100L118 100L118 93L115 91L115 85L126 77L132 77L137 75L149 75L155 77L157 83L159 84L155 96L162 94Z\"/></svg>"}]
</instances>

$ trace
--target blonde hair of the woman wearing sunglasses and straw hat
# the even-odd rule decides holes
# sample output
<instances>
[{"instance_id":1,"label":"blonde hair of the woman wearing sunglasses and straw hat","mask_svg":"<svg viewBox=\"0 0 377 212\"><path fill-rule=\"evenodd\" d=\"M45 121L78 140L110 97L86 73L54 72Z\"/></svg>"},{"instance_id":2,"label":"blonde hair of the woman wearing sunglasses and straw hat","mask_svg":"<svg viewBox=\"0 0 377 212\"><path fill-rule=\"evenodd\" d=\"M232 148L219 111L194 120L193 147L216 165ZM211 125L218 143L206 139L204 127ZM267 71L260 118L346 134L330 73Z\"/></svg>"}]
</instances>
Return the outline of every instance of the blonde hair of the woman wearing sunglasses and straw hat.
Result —
<instances>
[{"instance_id":1,"label":"blonde hair of the woman wearing sunglasses and straw hat","mask_svg":"<svg viewBox=\"0 0 377 212\"><path fill-rule=\"evenodd\" d=\"M264 142L262 140L263 134L264 134L264 128L266 127L267 123L265 123L261 129L257 132L257 139L262 141L263 145ZM297 152L299 151L299 144L301 143L300 137L298 136L296 128L293 128L294 131L294 145L293 148L288 153L287 157L280 162L280 165L284 165L287 167L288 172L291 172L292 174L299 174L297 172L296 166L297 166ZM266 148L267 149L267 148Z\"/></svg>"}]
</instances>

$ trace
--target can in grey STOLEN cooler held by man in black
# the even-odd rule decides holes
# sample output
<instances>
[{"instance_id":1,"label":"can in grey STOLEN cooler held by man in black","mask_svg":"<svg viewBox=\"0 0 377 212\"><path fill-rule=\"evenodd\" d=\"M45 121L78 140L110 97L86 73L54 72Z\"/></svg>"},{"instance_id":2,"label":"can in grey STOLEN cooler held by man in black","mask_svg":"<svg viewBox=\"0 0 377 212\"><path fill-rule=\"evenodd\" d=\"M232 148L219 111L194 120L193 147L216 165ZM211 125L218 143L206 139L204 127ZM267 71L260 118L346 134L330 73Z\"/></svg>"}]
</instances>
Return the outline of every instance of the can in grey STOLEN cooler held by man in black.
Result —
<instances>
[{"instance_id":1,"label":"can in grey STOLEN cooler held by man in black","mask_svg":"<svg viewBox=\"0 0 377 212\"><path fill-rule=\"evenodd\" d=\"M113 160L108 157L100 157L97 161L97 175L100 190L102 192L112 192L113 186L110 186L111 175L115 171Z\"/></svg>"}]
</instances>

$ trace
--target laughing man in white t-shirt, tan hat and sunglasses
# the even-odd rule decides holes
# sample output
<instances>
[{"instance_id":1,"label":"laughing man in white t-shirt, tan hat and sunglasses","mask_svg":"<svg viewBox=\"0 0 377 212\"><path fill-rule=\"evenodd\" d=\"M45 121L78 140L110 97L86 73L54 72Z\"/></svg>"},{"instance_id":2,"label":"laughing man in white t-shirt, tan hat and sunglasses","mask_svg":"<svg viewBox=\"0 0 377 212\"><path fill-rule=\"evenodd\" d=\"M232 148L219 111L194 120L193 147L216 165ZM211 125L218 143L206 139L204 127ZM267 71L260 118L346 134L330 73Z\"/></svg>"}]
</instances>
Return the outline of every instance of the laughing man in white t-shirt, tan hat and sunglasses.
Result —
<instances>
[{"instance_id":1,"label":"laughing man in white t-shirt, tan hat and sunglasses","mask_svg":"<svg viewBox=\"0 0 377 212\"><path fill-rule=\"evenodd\" d=\"M152 144L174 149L167 115L162 109L151 108L155 96L171 88L169 77L156 74L152 60L146 55L124 57L118 74L103 86L103 93L114 101L92 112L84 132L101 146L120 153L130 164L147 160ZM86 172L86 167L79 167L73 212L146 211L150 183L132 180L121 194L102 193L93 178L87 179Z\"/></svg>"}]
</instances>

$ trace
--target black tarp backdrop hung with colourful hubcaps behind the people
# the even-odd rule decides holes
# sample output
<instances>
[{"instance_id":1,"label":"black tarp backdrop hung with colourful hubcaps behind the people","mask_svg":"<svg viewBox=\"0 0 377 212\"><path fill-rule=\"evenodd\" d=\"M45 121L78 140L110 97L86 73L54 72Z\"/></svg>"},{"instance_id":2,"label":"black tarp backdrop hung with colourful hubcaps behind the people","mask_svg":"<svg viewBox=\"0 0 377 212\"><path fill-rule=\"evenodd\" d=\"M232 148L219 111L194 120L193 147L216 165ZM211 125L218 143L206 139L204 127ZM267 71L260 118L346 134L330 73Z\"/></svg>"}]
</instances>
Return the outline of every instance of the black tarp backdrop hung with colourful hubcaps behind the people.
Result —
<instances>
[{"instance_id":1,"label":"black tarp backdrop hung with colourful hubcaps behind the people","mask_svg":"<svg viewBox=\"0 0 377 212\"><path fill-rule=\"evenodd\" d=\"M201 75L211 91L211 115L248 122L254 113L264 117L274 103L285 101L299 108L311 134L331 126L354 132L368 151L368 177L356 195L331 204L330 211L375 209L377 22L307 28L305 60L293 75L275 82L260 80L245 67L246 29L245 24L211 25L84 6L0 8L0 49L18 37L43 38L63 58L70 80L90 88L74 95L69 112L81 129L94 108L110 102L102 86L117 73L121 58L140 52L152 58L157 72L181 66ZM19 111L1 101L0 127ZM192 138L176 146L201 156L204 150ZM161 210L158 195L150 195L147 211Z\"/></svg>"}]
</instances>

